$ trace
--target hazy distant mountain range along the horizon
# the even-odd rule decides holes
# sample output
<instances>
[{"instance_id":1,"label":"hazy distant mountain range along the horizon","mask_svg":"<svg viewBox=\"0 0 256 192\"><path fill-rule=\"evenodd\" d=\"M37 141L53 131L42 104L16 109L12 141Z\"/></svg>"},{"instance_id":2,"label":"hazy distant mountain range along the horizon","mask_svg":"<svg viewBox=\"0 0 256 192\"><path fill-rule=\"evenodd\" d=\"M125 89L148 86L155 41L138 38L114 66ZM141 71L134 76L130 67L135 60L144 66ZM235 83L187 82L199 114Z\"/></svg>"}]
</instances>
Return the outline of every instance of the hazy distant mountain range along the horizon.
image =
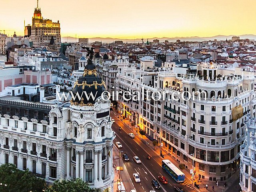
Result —
<instances>
[{"instance_id":1,"label":"hazy distant mountain range along the horizon","mask_svg":"<svg viewBox=\"0 0 256 192\"><path fill-rule=\"evenodd\" d=\"M148 38L148 41L152 42L154 39L158 39L160 40L160 42L164 42L165 40L168 40L169 42L176 42L177 39L179 39L180 41L208 41L208 40L214 40L217 39L218 41L220 40L231 40L232 36L235 35L216 35L213 37L162 37L162 38L158 38L158 37L154 37L154 38ZM246 34L246 35L239 35L240 39L256 39L256 35L253 34ZM141 39L118 39L118 38L101 38L101 37L94 37L94 38L89 38L89 43L95 42L95 41L102 41L102 43L111 43L113 41L118 41L121 40L124 43L128 42L128 43L138 43L138 42L142 42ZM147 39L144 39L144 42L146 42ZM74 37L62 37L61 38L61 42L78 42L78 38L74 38Z\"/></svg>"}]
</instances>

